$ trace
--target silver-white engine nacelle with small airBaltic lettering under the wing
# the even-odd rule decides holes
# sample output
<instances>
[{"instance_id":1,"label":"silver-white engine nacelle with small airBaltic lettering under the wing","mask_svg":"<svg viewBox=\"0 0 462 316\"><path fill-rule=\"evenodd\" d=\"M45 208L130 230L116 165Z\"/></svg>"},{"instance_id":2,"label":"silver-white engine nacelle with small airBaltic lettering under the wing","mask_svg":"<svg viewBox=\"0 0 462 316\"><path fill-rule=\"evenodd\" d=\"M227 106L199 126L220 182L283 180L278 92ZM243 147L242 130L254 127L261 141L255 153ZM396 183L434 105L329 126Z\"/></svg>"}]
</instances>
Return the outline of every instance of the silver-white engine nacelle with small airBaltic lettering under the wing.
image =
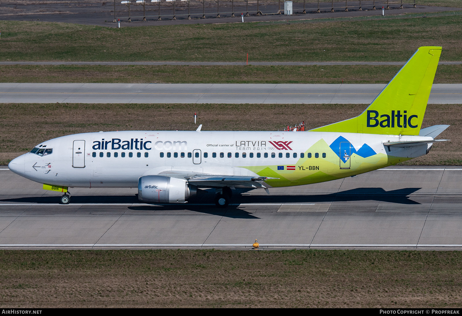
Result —
<instances>
[{"instance_id":1,"label":"silver-white engine nacelle with small airBaltic lettering under the wing","mask_svg":"<svg viewBox=\"0 0 462 316\"><path fill-rule=\"evenodd\" d=\"M184 179L170 176L142 176L138 179L138 199L151 203L184 203L194 196L197 187Z\"/></svg>"}]
</instances>

